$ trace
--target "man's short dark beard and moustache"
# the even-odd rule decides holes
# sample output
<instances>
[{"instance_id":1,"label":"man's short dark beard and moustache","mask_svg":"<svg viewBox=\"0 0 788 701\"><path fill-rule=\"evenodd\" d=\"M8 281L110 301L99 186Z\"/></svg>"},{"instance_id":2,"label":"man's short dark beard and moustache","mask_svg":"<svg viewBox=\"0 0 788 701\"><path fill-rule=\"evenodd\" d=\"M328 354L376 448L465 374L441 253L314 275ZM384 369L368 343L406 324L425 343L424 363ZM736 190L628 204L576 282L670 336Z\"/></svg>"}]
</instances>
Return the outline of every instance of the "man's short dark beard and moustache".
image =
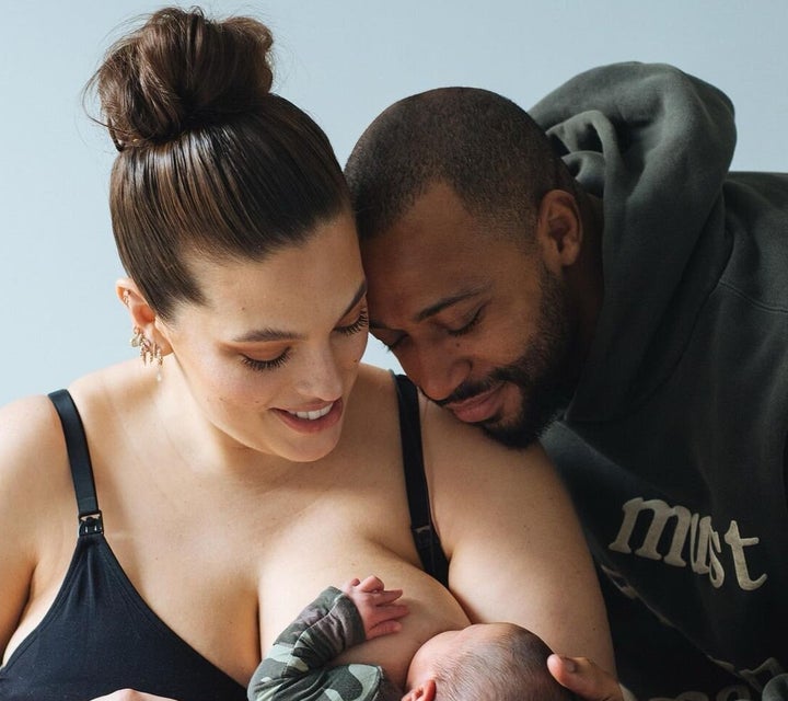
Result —
<instances>
[{"instance_id":1,"label":"man's short dark beard and moustache","mask_svg":"<svg viewBox=\"0 0 788 701\"><path fill-rule=\"evenodd\" d=\"M536 440L566 409L575 393L577 376L570 364L573 324L564 288L542 265L540 317L531 346L511 365L496 368L474 383L463 383L440 404L461 401L508 382L520 390L517 414L491 416L476 425L498 443L524 448Z\"/></svg>"}]
</instances>

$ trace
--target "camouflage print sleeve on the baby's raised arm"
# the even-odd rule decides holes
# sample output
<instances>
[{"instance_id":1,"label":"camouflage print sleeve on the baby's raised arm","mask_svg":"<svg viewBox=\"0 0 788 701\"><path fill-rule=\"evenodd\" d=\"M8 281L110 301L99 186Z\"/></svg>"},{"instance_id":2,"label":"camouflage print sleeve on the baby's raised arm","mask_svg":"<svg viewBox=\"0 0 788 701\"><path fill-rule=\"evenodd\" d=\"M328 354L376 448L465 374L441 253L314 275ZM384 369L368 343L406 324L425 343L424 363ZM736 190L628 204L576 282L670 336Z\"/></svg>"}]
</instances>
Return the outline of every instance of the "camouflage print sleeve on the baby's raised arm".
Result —
<instances>
[{"instance_id":1,"label":"camouflage print sleeve on the baby's raised arm","mask_svg":"<svg viewBox=\"0 0 788 701\"><path fill-rule=\"evenodd\" d=\"M354 602L328 587L277 637L248 687L250 701L371 701L383 681L372 665L328 664L364 641Z\"/></svg>"}]
</instances>

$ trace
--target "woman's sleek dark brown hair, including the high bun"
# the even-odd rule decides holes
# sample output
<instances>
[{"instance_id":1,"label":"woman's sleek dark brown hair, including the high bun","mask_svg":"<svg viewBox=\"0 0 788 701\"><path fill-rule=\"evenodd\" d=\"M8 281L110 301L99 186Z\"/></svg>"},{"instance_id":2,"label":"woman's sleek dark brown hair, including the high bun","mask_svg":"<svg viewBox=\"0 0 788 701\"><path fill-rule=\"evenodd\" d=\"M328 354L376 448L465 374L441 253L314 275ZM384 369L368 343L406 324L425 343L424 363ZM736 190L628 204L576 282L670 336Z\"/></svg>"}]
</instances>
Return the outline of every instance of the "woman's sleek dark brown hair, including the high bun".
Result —
<instances>
[{"instance_id":1,"label":"woman's sleek dark brown hair, including the high bun","mask_svg":"<svg viewBox=\"0 0 788 701\"><path fill-rule=\"evenodd\" d=\"M109 206L120 261L163 319L204 301L190 255L262 260L349 208L325 134L270 92L271 44L254 19L165 8L88 84L119 151Z\"/></svg>"}]
</instances>

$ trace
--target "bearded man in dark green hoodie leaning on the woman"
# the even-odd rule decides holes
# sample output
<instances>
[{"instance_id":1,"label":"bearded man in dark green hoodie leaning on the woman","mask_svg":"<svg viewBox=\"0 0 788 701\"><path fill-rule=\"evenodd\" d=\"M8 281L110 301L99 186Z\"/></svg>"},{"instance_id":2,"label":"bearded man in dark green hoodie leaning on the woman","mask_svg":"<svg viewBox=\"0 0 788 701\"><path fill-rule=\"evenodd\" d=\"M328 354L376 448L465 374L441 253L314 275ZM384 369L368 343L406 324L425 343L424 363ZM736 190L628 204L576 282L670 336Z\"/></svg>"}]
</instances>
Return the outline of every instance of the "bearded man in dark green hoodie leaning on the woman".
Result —
<instances>
[{"instance_id":1,"label":"bearded man in dark green hoodie leaning on the woman","mask_svg":"<svg viewBox=\"0 0 788 701\"><path fill-rule=\"evenodd\" d=\"M732 105L669 66L531 117L442 89L361 137L372 332L460 420L542 438L625 686L757 698L788 669L788 175L729 172Z\"/></svg>"}]
</instances>

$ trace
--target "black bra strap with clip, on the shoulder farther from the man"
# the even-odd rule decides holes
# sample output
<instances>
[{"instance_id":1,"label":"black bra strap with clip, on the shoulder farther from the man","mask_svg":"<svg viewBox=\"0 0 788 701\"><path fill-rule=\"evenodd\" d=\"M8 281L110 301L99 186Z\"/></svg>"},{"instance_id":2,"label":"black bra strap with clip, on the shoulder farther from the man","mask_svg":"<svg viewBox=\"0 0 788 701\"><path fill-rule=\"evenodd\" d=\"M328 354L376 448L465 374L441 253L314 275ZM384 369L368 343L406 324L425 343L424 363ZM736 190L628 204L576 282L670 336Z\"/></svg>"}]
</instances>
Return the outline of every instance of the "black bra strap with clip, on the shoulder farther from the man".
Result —
<instances>
[{"instance_id":1,"label":"black bra strap with clip, on the shoulder farther from the man","mask_svg":"<svg viewBox=\"0 0 788 701\"><path fill-rule=\"evenodd\" d=\"M79 533L80 536L101 533L104 531L104 526L102 513L99 508L99 499L96 498L93 466L90 461L82 420L68 390L50 392L49 399L55 404L58 416L60 416L66 437L71 480L77 494Z\"/></svg>"}]
</instances>

